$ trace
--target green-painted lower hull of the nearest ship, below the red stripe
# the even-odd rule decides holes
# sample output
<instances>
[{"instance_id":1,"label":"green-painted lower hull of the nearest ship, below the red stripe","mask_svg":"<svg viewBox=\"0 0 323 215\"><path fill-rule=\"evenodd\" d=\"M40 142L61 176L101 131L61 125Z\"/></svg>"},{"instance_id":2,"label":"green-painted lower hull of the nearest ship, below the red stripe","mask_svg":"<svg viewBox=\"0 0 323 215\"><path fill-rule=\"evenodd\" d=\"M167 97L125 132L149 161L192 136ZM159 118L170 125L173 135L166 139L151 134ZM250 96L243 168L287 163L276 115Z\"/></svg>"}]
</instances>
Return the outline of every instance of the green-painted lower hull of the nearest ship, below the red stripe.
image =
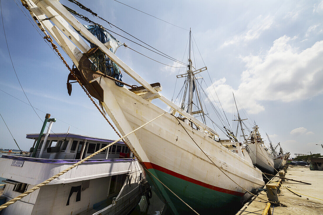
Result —
<instances>
[{"instance_id":1,"label":"green-painted lower hull of the nearest ship, below the red stripe","mask_svg":"<svg viewBox=\"0 0 323 215\"><path fill-rule=\"evenodd\" d=\"M208 189L156 169L149 171L199 214L235 214L241 208L240 196ZM146 179L157 195L161 192L163 196L160 197L161 200L164 198L168 202L167 205L174 214L195 214L153 176L147 176ZM158 190L151 183L151 179L154 180Z\"/></svg>"}]
</instances>

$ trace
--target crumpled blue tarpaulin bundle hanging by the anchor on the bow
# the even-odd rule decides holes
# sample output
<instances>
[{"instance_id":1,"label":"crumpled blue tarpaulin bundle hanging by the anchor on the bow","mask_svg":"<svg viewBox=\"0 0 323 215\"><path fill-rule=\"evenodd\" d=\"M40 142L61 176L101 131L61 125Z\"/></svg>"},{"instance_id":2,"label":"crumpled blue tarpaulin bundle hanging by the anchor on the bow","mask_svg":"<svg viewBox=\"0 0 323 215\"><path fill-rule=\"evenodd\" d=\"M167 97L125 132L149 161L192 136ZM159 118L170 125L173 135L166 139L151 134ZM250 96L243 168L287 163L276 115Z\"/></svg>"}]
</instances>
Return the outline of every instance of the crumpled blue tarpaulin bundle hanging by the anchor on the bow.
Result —
<instances>
[{"instance_id":1,"label":"crumpled blue tarpaulin bundle hanging by the anchor on the bow","mask_svg":"<svg viewBox=\"0 0 323 215\"><path fill-rule=\"evenodd\" d=\"M102 28L99 25L90 25L90 26L85 26L89 32L91 32L91 34L93 34L96 38L98 38L98 40L105 44L109 41L111 48L109 49L112 53L115 53L118 49L119 46L123 46L122 43L120 43L114 36L110 35L109 32L107 32L104 28ZM96 47L96 45L90 43L91 48ZM110 77L113 77L117 80L121 80L122 74L119 70L118 65L116 65L113 61L110 60L110 58L102 53L101 56L98 56L99 61L103 62L103 65L105 65L104 67L99 67L99 63L100 62L94 62L93 64L95 65L95 68L92 68L93 70L98 70L100 69L100 71ZM116 85L123 87L123 84L119 83L119 82L115 82Z\"/></svg>"}]
</instances>

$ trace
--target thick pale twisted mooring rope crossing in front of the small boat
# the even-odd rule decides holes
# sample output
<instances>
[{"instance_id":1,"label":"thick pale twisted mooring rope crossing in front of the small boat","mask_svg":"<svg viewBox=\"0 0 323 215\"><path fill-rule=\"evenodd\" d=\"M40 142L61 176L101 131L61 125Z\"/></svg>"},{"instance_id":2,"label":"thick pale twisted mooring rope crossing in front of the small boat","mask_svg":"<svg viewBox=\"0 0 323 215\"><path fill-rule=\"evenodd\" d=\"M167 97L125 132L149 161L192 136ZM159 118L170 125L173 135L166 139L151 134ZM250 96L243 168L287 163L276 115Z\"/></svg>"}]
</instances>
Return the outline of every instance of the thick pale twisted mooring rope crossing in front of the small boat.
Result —
<instances>
[{"instance_id":1,"label":"thick pale twisted mooring rope crossing in front of the small boat","mask_svg":"<svg viewBox=\"0 0 323 215\"><path fill-rule=\"evenodd\" d=\"M165 112L165 113L167 113L167 112ZM149 123L151 123L151 122L152 122L152 121L154 121L155 119L157 119L157 118L161 117L161 116L162 116L162 115L164 115L165 113L163 113L163 114L159 115L158 117L156 117L156 118L154 118L154 119L150 120L149 122L147 122L147 123L143 124L143 125L142 125L142 126L140 126L139 128L136 128L135 130L131 131L130 133L126 134L125 136L123 136L123 137L121 137L121 138L119 138L119 139L115 140L114 142L110 143L109 145L107 145L107 146L105 146L105 147L101 148L99 151L94 152L94 153L93 153L93 154L91 154L90 156L88 156L88 157L86 157L86 158L84 158L84 159L82 159L82 160L78 161L76 164L74 164L74 165L70 166L70 167L69 167L69 168L67 168L67 169L64 169L63 171L61 171L61 172L57 173L57 174L56 174L56 175L54 175L53 177L51 177L51 178L47 179L46 181L44 181L44 182L42 182L42 183L40 183L40 184L36 185L36 186L35 186L35 187L33 187L32 189L29 189L29 190L27 190L26 192L22 193L21 195L19 195L19 196L17 196L17 197L15 197L15 198L13 198L12 200L10 200L10 201L6 202L5 204L3 204L3 205L1 205L1 206L0 206L0 211L1 211L2 209L5 209L5 208L6 208L6 207L8 207L9 205L11 205L11 204L15 203L16 201L21 200L22 198L24 198L25 196L27 196L27 195L29 195L30 193L34 192L35 190L39 189L40 187L42 187L42 186L44 186L44 185L48 184L49 182L51 182L52 180L54 180L54 179L58 178L59 176L63 175L64 173L68 172L69 170L71 170L71 169L73 169L73 168L77 167L78 165L80 165L81 163L83 163L83 162L87 161L88 159L92 158L93 156L97 155L97 154L98 154L98 153L100 153L101 151L103 151L103 150L105 150L105 149L109 148L110 146L112 146L112 145L113 145L113 144L115 144L116 142L120 141L122 138L125 138L125 137L129 136L130 134L132 134L133 132L135 132L135 131L139 130L140 128L142 128L142 127L144 127L144 126L148 125Z\"/></svg>"}]
</instances>

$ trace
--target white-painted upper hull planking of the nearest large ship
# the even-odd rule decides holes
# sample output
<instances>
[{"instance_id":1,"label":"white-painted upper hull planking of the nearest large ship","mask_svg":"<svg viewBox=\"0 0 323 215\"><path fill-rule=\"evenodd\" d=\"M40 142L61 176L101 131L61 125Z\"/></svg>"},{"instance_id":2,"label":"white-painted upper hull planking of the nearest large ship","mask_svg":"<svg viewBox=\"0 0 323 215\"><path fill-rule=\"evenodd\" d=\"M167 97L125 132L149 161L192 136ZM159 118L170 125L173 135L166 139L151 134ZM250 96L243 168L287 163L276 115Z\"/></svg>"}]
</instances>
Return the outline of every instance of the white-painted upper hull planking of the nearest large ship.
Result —
<instances>
[{"instance_id":1,"label":"white-painted upper hull planking of the nearest large ship","mask_svg":"<svg viewBox=\"0 0 323 215\"><path fill-rule=\"evenodd\" d=\"M121 135L127 134L165 111L141 98L125 87L118 87L108 78L97 78L104 90L104 105L109 117ZM206 136L180 120L203 151L238 184L252 190L264 186L259 169L231 152L213 138ZM215 187L244 193L216 168L195 145L176 117L166 113L126 139L130 148L136 149L143 162L150 162L181 175ZM131 137L136 141L131 141ZM138 150L139 149L139 150ZM207 171L206 171L207 170ZM217 179L214 180L214 176Z\"/></svg>"}]
</instances>

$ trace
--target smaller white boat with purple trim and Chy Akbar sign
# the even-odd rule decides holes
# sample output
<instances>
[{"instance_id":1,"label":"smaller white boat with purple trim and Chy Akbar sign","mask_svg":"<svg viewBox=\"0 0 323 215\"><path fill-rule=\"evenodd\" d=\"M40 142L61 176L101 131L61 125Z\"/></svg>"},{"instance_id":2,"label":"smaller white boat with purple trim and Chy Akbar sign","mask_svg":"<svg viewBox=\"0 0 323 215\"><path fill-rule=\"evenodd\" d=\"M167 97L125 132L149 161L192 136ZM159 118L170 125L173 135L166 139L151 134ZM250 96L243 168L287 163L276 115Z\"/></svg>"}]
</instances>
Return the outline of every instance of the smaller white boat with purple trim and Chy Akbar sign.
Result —
<instances>
[{"instance_id":1,"label":"smaller white boat with purple trim and Chy Akbar sign","mask_svg":"<svg viewBox=\"0 0 323 215\"><path fill-rule=\"evenodd\" d=\"M39 134L26 136L34 140L31 152L38 137ZM114 141L71 133L48 134L47 141L44 138L43 135L34 157L0 158L0 174L6 183L2 196L6 201ZM152 193L140 165L127 145L117 142L1 214L128 214L142 194L149 198Z\"/></svg>"}]
</instances>

